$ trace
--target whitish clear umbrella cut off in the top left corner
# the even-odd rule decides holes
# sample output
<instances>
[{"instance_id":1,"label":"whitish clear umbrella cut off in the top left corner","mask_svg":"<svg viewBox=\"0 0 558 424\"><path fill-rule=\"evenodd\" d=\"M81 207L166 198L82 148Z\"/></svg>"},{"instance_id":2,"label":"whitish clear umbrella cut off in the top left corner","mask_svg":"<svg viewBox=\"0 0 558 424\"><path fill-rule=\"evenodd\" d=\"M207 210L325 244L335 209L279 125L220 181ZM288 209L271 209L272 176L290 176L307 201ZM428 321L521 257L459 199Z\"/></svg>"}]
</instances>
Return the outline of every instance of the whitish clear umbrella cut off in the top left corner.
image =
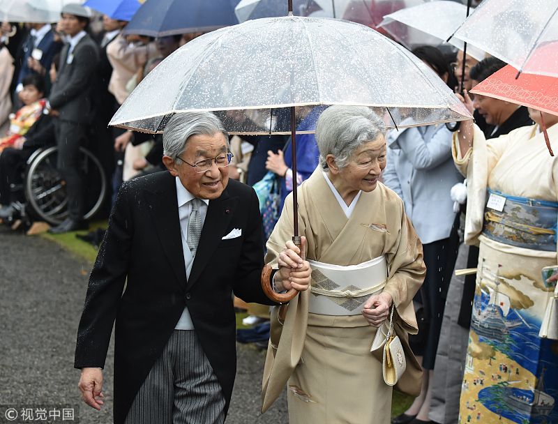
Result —
<instances>
[{"instance_id":1,"label":"whitish clear umbrella cut off in the top left corner","mask_svg":"<svg viewBox=\"0 0 558 424\"><path fill-rule=\"evenodd\" d=\"M84 0L0 0L0 19L5 22L58 22L67 3Z\"/></svg>"}]
</instances>

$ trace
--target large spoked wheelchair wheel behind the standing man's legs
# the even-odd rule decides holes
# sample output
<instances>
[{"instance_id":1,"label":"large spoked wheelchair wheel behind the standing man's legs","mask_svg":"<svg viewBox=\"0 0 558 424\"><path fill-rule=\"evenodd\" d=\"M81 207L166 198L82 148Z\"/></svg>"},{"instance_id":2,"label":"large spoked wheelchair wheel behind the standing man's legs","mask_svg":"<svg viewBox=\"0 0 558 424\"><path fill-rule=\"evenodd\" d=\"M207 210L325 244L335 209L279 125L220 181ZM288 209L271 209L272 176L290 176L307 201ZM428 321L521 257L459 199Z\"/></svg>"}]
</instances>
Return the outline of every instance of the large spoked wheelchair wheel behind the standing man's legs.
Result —
<instances>
[{"instance_id":1,"label":"large spoked wheelchair wheel behind the standing man's legs","mask_svg":"<svg viewBox=\"0 0 558 424\"><path fill-rule=\"evenodd\" d=\"M59 225L68 216L66 182L56 169L57 157L56 146L40 151L30 161L24 182L29 212L50 225ZM89 219L103 205L107 195L107 177L99 160L83 147L80 147L79 171L84 190L84 218Z\"/></svg>"}]
</instances>

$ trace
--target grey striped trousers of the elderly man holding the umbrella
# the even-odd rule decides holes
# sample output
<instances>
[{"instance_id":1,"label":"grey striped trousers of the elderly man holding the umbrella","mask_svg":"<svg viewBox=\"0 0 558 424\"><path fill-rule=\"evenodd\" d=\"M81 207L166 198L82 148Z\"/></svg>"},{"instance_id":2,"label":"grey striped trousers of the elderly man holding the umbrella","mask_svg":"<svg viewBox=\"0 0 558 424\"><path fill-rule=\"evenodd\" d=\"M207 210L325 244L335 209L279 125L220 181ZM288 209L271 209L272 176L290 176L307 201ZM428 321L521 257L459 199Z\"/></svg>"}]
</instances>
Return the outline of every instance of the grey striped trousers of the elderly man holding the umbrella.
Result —
<instances>
[{"instance_id":1,"label":"grey striped trousers of the elderly man holding the umbrella","mask_svg":"<svg viewBox=\"0 0 558 424\"><path fill-rule=\"evenodd\" d=\"M194 330L174 330L126 424L222 424L225 398Z\"/></svg>"}]
</instances>

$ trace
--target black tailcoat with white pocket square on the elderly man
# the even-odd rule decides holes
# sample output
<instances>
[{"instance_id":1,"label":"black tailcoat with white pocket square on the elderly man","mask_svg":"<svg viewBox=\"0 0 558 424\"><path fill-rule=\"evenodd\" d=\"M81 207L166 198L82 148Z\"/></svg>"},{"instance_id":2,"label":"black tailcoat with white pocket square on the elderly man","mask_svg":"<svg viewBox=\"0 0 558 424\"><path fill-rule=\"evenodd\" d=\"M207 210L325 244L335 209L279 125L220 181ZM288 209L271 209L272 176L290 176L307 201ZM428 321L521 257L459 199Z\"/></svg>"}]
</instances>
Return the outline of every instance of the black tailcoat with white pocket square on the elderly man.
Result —
<instances>
[{"instance_id":1,"label":"black tailcoat with white pocket square on the elderly man","mask_svg":"<svg viewBox=\"0 0 558 424\"><path fill-rule=\"evenodd\" d=\"M234 228L241 236L222 240ZM124 422L185 306L228 408L236 373L232 292L271 303L260 286L261 241L254 190L230 180L209 202L186 280L174 177L165 171L123 183L89 278L75 351L76 368L103 368L116 319L114 423Z\"/></svg>"}]
</instances>

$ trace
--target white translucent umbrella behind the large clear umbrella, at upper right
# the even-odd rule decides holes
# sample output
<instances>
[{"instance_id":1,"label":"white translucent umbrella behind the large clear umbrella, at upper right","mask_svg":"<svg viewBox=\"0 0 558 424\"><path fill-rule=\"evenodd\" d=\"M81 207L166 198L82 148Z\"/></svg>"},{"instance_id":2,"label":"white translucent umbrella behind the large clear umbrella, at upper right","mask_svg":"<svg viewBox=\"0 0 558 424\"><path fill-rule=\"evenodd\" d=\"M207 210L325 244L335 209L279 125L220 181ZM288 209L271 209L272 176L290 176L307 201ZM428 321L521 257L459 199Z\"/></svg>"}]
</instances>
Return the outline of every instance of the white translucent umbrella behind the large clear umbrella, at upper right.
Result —
<instances>
[{"instance_id":1,"label":"white translucent umbrella behind the large clear umbrella, at upper right","mask_svg":"<svg viewBox=\"0 0 558 424\"><path fill-rule=\"evenodd\" d=\"M435 45L451 37L466 18L467 6L464 4L449 0L435 0L390 13L384 16L379 27L385 29L395 40L407 48L412 48L416 45L417 38L412 39L410 38L411 33L400 31L401 24L430 36L430 38L418 38L421 44ZM451 38L449 43L459 50L463 50L462 40ZM467 46L467 54L478 61L484 59L484 52L472 45Z\"/></svg>"}]
</instances>

